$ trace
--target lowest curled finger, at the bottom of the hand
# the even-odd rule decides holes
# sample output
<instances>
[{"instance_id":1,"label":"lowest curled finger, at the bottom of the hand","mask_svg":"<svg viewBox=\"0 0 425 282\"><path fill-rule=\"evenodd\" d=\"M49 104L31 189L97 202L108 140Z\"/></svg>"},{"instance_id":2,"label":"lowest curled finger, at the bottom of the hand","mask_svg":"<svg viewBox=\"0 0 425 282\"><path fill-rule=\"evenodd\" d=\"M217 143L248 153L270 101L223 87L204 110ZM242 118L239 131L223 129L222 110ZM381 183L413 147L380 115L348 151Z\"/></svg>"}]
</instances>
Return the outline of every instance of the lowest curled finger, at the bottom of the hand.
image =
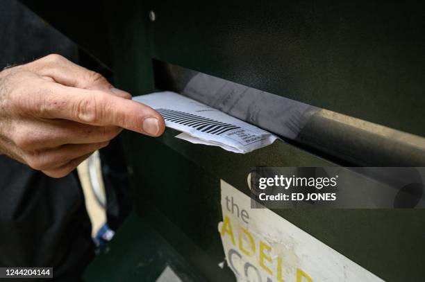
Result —
<instances>
[{"instance_id":1,"label":"lowest curled finger, at the bottom of the hand","mask_svg":"<svg viewBox=\"0 0 425 282\"><path fill-rule=\"evenodd\" d=\"M35 170L52 170L67 164L69 161L108 146L109 142L92 144L67 144L50 150L26 152L24 159L28 166Z\"/></svg>"}]
</instances>

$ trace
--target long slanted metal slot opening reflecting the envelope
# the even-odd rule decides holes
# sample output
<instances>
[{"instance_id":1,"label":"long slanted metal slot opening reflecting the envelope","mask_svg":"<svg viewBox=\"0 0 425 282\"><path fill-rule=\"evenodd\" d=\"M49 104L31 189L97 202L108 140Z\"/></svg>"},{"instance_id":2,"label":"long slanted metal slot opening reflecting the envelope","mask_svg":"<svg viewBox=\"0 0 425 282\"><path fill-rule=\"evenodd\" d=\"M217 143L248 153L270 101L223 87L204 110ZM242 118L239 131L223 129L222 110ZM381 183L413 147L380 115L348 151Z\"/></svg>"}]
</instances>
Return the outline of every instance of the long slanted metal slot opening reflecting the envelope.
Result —
<instances>
[{"instance_id":1,"label":"long slanted metal slot opening reflecting the envelope","mask_svg":"<svg viewBox=\"0 0 425 282\"><path fill-rule=\"evenodd\" d=\"M425 138L152 60L157 89L176 91L345 166L425 166Z\"/></svg>"}]
</instances>

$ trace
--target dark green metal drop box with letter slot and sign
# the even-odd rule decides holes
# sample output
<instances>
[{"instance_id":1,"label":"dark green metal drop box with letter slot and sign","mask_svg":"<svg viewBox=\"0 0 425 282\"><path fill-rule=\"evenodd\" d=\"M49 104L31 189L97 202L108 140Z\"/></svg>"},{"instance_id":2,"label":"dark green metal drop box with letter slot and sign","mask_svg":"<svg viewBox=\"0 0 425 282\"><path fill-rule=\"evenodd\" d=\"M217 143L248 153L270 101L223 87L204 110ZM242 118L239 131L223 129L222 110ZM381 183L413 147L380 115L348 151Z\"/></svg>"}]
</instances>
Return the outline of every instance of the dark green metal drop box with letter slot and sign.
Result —
<instances>
[{"instance_id":1,"label":"dark green metal drop box with letter slot and sign","mask_svg":"<svg viewBox=\"0 0 425 282\"><path fill-rule=\"evenodd\" d=\"M133 96L174 91L278 139L237 154L171 128L124 132L135 211L87 281L423 279L424 209L259 211L249 200L255 167L425 166L422 3L97 4L104 29L92 35L107 31L109 53L75 19L28 6Z\"/></svg>"}]
</instances>

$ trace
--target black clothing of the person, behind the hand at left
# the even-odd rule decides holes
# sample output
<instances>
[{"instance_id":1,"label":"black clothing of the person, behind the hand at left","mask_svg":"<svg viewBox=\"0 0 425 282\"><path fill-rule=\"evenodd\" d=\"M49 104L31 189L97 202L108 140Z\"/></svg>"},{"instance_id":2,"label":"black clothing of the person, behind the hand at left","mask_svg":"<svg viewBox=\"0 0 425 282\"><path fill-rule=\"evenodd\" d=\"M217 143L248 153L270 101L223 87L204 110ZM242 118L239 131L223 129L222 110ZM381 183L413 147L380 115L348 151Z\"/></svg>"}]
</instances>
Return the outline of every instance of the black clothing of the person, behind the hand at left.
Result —
<instances>
[{"instance_id":1,"label":"black clothing of the person, behind the hand at left","mask_svg":"<svg viewBox=\"0 0 425 282\"><path fill-rule=\"evenodd\" d=\"M75 44L18 1L0 1L0 42L0 70L49 53L78 59ZM93 254L76 175L53 179L0 156L0 267L53 267L55 281L78 281Z\"/></svg>"}]
</instances>

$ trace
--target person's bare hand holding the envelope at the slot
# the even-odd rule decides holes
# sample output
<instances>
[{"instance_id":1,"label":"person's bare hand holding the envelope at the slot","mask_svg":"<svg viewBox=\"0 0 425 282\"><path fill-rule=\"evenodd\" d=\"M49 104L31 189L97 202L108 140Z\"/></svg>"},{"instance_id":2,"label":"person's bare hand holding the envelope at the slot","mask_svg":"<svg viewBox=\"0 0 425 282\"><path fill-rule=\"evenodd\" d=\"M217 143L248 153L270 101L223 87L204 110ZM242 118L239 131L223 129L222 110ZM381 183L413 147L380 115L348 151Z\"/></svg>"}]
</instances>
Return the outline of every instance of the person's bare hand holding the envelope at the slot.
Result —
<instances>
[{"instance_id":1,"label":"person's bare hand holding the envelope at the slot","mask_svg":"<svg viewBox=\"0 0 425 282\"><path fill-rule=\"evenodd\" d=\"M0 155L63 177L123 128L159 136L165 123L99 73L60 55L0 72Z\"/></svg>"}]
</instances>

